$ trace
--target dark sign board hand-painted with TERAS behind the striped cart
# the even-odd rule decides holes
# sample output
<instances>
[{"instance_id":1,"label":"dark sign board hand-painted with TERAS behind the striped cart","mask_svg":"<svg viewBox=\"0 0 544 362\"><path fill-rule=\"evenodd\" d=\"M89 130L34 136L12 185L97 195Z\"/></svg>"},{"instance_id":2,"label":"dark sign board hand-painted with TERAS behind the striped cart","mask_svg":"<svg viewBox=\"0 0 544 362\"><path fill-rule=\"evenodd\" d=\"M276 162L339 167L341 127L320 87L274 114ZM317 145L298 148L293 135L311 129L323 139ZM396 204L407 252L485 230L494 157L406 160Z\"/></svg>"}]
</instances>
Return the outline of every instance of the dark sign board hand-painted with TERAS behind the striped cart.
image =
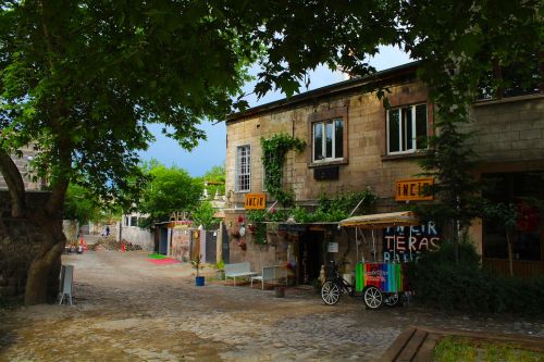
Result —
<instances>
[{"instance_id":1,"label":"dark sign board hand-painted with TERAS behind the striped cart","mask_svg":"<svg viewBox=\"0 0 544 362\"><path fill-rule=\"evenodd\" d=\"M434 222L419 226L387 227L383 233L383 261L416 260L422 251L437 250L441 236Z\"/></svg>"}]
</instances>

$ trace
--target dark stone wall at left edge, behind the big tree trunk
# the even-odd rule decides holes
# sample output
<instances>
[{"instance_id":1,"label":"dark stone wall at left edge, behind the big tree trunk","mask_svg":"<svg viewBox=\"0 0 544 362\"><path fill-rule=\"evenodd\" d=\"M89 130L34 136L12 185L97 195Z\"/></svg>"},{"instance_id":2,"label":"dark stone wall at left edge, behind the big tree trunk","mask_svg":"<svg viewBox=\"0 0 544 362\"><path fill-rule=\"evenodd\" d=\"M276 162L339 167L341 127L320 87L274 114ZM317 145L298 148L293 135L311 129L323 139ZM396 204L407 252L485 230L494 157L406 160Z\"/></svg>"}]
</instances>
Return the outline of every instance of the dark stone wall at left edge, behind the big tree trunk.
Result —
<instances>
[{"instance_id":1,"label":"dark stone wall at left edge, behind the big tree trunk","mask_svg":"<svg viewBox=\"0 0 544 362\"><path fill-rule=\"evenodd\" d=\"M26 192L30 209L39 209L49 192ZM26 219L11 216L8 191L0 191L0 297L24 294L27 271L41 250L42 233Z\"/></svg>"}]
</instances>

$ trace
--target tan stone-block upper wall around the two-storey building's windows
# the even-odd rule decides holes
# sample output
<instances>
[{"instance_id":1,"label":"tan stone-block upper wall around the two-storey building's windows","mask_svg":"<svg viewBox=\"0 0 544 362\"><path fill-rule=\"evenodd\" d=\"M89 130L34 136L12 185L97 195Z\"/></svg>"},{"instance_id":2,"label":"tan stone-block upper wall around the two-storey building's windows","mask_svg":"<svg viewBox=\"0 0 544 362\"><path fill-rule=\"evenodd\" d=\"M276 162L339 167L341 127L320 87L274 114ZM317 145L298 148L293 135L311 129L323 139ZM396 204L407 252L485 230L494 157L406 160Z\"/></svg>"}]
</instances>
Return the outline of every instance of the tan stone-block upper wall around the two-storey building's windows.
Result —
<instances>
[{"instance_id":1,"label":"tan stone-block upper wall around the two-storey building's windows","mask_svg":"<svg viewBox=\"0 0 544 362\"><path fill-rule=\"evenodd\" d=\"M407 83L390 88L393 107L424 103L425 88L418 83ZM311 133L309 118L317 112L347 109L347 162L339 165L338 178L316 180L311 164ZM432 107L429 107L432 122ZM251 147L251 192L263 191L263 166L260 138L287 133L307 142L301 153L289 151L284 164L284 188L295 191L295 199L312 203L322 194L334 197L344 192L362 191L371 188L382 204L391 203L395 195L395 180L411 177L421 172L415 155L386 155L386 111L373 93L337 95L308 102L290 109L280 109L261 115L227 124L226 190L235 190L236 148ZM242 207L244 194L234 192L233 200ZM385 211L385 210L384 210Z\"/></svg>"}]
</instances>

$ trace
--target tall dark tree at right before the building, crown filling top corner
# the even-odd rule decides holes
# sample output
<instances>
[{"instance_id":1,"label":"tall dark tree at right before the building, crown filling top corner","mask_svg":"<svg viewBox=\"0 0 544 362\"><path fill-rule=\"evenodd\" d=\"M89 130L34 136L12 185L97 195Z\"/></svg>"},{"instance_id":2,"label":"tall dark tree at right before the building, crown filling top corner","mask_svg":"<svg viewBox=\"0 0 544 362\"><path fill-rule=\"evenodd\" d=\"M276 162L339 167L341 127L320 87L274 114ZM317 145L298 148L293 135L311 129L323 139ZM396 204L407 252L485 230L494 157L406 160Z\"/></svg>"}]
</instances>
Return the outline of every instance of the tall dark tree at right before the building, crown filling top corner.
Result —
<instances>
[{"instance_id":1,"label":"tall dark tree at right before the building, crown filling top corner","mask_svg":"<svg viewBox=\"0 0 544 362\"><path fill-rule=\"evenodd\" d=\"M542 47L542 2L532 0L401 2L400 39L421 60L419 73L435 104L434 135L421 164L437 179L440 203L428 211L452 226L456 260L462 230L482 212L479 186L470 174L475 155L462 125L482 82L493 91L508 85L490 73L515 66L521 79L539 77L534 54Z\"/></svg>"}]
</instances>

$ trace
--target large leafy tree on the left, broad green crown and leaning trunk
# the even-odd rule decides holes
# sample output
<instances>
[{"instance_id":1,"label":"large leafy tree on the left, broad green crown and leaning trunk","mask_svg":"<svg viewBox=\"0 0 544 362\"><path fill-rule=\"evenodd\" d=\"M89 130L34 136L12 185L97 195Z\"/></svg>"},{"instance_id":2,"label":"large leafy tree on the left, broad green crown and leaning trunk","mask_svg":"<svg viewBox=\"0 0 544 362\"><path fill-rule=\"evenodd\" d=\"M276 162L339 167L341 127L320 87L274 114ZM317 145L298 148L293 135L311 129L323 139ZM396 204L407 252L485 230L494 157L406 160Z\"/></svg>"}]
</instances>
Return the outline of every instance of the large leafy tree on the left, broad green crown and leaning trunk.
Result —
<instances>
[{"instance_id":1,"label":"large leafy tree on the left, broad green crown and leaning trunk","mask_svg":"<svg viewBox=\"0 0 544 362\"><path fill-rule=\"evenodd\" d=\"M169 135L190 149L205 138L200 120L231 111L254 51L219 11L206 1L0 2L0 171L13 216L44 236L26 304L59 290L59 210L71 180L127 207L143 183L137 151L152 139L148 123L171 126ZM10 158L29 141L50 182L44 210L26 207Z\"/></svg>"}]
</instances>

